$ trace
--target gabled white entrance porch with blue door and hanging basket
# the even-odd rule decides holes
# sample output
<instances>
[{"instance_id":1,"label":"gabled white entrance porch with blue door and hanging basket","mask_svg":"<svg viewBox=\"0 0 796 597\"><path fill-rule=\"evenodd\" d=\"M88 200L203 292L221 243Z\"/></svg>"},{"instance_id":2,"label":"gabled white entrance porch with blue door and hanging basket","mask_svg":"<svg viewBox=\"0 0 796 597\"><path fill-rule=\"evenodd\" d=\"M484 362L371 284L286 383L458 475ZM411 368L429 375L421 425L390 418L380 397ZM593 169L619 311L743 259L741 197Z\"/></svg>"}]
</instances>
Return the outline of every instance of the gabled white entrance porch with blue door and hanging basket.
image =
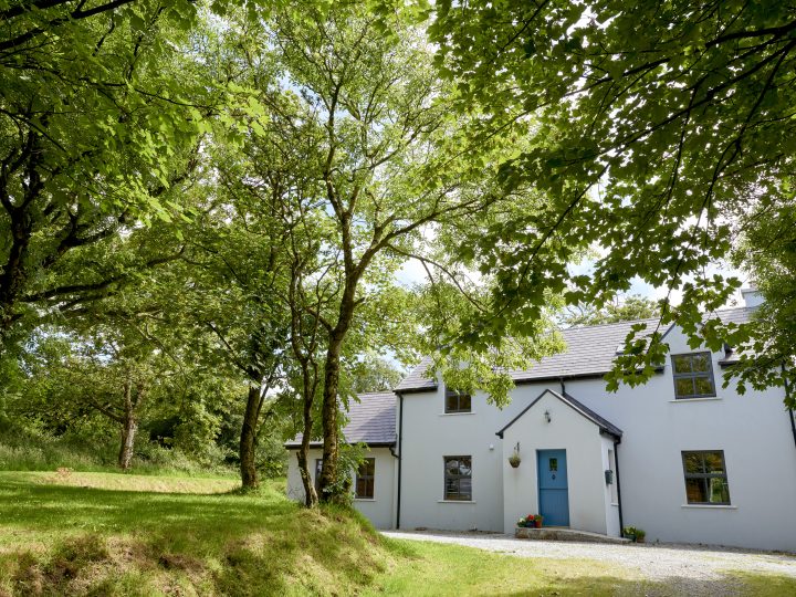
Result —
<instances>
[{"instance_id":1,"label":"gabled white entrance porch with blue door and hanging basket","mask_svg":"<svg viewBox=\"0 0 796 597\"><path fill-rule=\"evenodd\" d=\"M567 530L620 537L616 449L621 430L572 396L546 389L498 436L506 533L514 533L520 517L542 514L544 532L528 530L534 537Z\"/></svg>"}]
</instances>

